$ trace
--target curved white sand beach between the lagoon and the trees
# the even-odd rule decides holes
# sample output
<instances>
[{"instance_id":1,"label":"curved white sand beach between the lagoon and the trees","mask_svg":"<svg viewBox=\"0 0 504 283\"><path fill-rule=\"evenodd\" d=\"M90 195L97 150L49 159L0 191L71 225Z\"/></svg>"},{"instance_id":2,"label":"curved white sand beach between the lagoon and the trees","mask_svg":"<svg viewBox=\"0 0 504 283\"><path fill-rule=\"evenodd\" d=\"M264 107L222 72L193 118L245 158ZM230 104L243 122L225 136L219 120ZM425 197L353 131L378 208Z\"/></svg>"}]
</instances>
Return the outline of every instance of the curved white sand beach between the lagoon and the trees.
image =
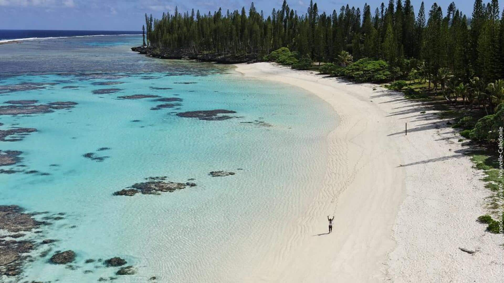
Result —
<instances>
[{"instance_id":1,"label":"curved white sand beach between the lagoon and the trees","mask_svg":"<svg viewBox=\"0 0 504 283\"><path fill-rule=\"evenodd\" d=\"M436 111L378 85L271 63L236 70L305 89L339 116L317 197L239 281L499 281L499 236L476 222L490 192ZM321 234L327 215L335 216L329 235Z\"/></svg>"}]
</instances>

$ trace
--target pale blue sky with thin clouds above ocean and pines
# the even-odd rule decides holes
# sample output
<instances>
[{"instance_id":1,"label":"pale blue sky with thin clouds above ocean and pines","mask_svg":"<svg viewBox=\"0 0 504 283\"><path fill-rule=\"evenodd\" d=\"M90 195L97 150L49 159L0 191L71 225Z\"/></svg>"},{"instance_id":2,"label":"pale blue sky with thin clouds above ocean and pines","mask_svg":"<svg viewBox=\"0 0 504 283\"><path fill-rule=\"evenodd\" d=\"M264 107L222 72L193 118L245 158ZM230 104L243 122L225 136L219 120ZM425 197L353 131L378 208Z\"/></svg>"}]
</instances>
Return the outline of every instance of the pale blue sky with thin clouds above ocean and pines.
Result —
<instances>
[{"instance_id":1,"label":"pale blue sky with thin clouds above ocean and pines","mask_svg":"<svg viewBox=\"0 0 504 283\"><path fill-rule=\"evenodd\" d=\"M283 0L254 1L258 11L269 15L273 8L279 8ZM396 0L395 0L396 1ZM395 2L394 1L394 2ZM378 0L322 0L316 1L319 11L332 12L339 10L347 3L362 7L364 3L371 6L371 11L384 1ZM436 1L446 13L451 0ZM487 1L484 1L487 2ZM289 6L302 13L306 12L309 0L291 0ZM388 0L385 1L387 5ZM415 14L420 8L420 0L412 0ZM426 13L434 1L425 1ZM455 1L457 8L468 16L472 13L472 0ZM202 13L215 11L222 7L234 10L245 7L247 0L0 0L0 29L66 29L66 30L141 30L144 13L160 17L164 11L172 12L178 6L179 11L199 9Z\"/></svg>"}]
</instances>

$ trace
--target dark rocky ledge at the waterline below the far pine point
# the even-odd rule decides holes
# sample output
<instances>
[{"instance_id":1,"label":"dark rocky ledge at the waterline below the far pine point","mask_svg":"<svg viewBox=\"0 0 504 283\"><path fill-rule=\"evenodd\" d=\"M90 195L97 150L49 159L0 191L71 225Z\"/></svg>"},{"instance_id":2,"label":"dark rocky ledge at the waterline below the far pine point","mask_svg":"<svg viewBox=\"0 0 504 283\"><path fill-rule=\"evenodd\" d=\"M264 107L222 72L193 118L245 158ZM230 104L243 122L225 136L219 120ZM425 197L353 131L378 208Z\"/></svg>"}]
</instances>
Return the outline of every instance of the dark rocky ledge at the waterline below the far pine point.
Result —
<instances>
[{"instance_id":1,"label":"dark rocky ledge at the waterline below the far pine point","mask_svg":"<svg viewBox=\"0 0 504 283\"><path fill-rule=\"evenodd\" d=\"M231 53L195 53L185 50L166 50L152 47L132 47L131 50L145 54L146 56L156 57L161 59L190 59L203 62L217 62L224 64L235 64L245 62L259 61L258 54L231 54Z\"/></svg>"}]
</instances>

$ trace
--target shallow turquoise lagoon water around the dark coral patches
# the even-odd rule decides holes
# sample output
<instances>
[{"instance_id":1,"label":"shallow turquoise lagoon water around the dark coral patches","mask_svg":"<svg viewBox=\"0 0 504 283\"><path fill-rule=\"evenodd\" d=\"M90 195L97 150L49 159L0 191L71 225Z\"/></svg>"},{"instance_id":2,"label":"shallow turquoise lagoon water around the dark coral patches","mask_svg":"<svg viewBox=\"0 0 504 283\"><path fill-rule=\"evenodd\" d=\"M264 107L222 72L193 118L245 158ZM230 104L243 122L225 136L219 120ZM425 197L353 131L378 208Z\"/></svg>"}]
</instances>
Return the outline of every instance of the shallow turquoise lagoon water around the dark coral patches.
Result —
<instances>
[{"instance_id":1,"label":"shallow turquoise lagoon water around the dark coral patches","mask_svg":"<svg viewBox=\"0 0 504 283\"><path fill-rule=\"evenodd\" d=\"M254 246L288 225L317 191L325 173L325 136L335 123L329 105L286 85L244 79L230 66L130 52L140 40L110 36L0 45L0 86L54 83L1 93L0 103L78 103L52 113L0 115L0 129L38 130L18 142L0 142L1 150L22 151L26 166L0 169L50 174L0 174L0 204L66 214L26 238L58 241L38 246L22 276L0 281L232 281L237 268L253 264ZM104 82L122 84L96 85ZM92 93L108 88L120 90ZM183 101L150 110L167 102L117 98L135 94ZM237 113L220 121L175 115L212 109ZM107 158L97 162L84 158L86 153ZM217 170L236 174L209 176ZM160 195L112 195L150 176L194 178L197 186ZM48 263L55 251L68 249L77 254L73 268ZM113 256L134 265L137 274L115 275L117 268L84 262Z\"/></svg>"}]
</instances>

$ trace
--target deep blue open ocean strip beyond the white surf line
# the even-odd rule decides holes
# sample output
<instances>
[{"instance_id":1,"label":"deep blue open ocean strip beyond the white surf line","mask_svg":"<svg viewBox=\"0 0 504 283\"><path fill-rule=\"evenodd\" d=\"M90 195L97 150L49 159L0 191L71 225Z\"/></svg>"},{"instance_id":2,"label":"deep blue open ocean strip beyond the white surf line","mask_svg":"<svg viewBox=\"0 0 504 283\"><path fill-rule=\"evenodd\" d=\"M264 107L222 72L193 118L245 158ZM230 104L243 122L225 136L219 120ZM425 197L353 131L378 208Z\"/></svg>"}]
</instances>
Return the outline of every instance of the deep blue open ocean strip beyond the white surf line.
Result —
<instances>
[{"instance_id":1,"label":"deep blue open ocean strip beyond the white surf line","mask_svg":"<svg viewBox=\"0 0 504 283\"><path fill-rule=\"evenodd\" d=\"M119 34L142 34L142 31L0 30L0 42L12 39Z\"/></svg>"}]
</instances>

